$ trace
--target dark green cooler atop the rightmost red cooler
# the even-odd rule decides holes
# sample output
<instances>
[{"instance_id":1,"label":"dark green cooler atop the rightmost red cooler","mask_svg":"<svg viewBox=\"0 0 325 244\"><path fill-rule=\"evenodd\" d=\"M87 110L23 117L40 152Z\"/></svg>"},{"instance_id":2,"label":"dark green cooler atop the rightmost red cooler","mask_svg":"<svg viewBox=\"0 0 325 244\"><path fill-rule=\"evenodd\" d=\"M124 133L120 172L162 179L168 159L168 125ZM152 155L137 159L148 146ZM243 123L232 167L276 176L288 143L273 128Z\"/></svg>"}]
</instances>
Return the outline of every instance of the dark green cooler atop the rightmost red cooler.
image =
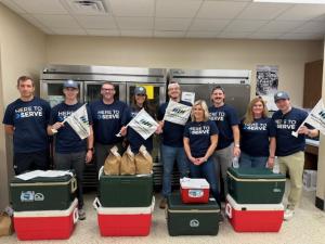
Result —
<instances>
[{"instance_id":1,"label":"dark green cooler atop the rightmost red cooler","mask_svg":"<svg viewBox=\"0 0 325 244\"><path fill-rule=\"evenodd\" d=\"M282 202L286 176L268 168L229 168L229 194L238 204L278 204Z\"/></svg>"}]
</instances>

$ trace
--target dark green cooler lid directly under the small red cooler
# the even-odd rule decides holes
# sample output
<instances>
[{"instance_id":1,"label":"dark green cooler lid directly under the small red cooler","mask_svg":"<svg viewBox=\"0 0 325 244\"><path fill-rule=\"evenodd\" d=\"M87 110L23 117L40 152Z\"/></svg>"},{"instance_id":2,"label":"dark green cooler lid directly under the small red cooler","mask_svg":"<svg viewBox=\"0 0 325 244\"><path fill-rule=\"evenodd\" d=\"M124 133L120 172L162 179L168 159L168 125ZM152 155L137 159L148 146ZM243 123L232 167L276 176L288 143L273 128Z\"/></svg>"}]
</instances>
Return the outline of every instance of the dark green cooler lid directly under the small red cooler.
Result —
<instances>
[{"instance_id":1,"label":"dark green cooler lid directly under the small red cooler","mask_svg":"<svg viewBox=\"0 0 325 244\"><path fill-rule=\"evenodd\" d=\"M220 211L220 207L213 197L209 198L208 203L204 204L184 204L181 200L180 193L172 193L167 198L168 210L179 210L179 211Z\"/></svg>"}]
</instances>

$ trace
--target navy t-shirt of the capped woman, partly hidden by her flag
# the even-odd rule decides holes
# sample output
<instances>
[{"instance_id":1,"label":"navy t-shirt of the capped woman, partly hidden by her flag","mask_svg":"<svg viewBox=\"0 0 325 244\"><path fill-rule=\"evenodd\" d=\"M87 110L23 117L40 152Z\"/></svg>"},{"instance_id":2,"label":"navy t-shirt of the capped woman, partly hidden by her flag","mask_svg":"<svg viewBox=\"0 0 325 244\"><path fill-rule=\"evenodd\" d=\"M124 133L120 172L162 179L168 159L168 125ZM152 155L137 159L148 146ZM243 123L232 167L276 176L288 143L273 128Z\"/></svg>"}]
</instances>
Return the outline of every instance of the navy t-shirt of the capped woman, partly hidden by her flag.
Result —
<instances>
[{"instance_id":1,"label":"navy t-shirt of the capped woman, partly hidden by her flag","mask_svg":"<svg viewBox=\"0 0 325 244\"><path fill-rule=\"evenodd\" d=\"M136 116L136 114L140 111L135 107L132 107L130 110L130 120ZM141 145L144 145L146 151L152 152L153 151L153 136L151 136L148 139L144 140L143 137L141 137L135 130L133 130L131 127L128 127L128 141L131 146L131 151L136 154L139 152L139 149Z\"/></svg>"}]
</instances>

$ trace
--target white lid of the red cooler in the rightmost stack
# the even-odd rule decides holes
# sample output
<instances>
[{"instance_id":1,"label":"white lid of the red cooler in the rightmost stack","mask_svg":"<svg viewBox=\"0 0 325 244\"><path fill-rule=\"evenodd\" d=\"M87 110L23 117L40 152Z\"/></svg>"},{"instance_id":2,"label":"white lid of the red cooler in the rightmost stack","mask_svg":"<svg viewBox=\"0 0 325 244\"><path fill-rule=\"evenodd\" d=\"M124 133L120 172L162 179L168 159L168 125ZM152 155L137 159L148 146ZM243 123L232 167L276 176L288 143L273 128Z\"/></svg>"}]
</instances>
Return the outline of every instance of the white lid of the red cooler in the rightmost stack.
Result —
<instances>
[{"instance_id":1,"label":"white lid of the red cooler in the rightmost stack","mask_svg":"<svg viewBox=\"0 0 325 244\"><path fill-rule=\"evenodd\" d=\"M235 210L284 210L284 205L280 204L238 204L230 195L226 195L226 202Z\"/></svg>"}]
</instances>

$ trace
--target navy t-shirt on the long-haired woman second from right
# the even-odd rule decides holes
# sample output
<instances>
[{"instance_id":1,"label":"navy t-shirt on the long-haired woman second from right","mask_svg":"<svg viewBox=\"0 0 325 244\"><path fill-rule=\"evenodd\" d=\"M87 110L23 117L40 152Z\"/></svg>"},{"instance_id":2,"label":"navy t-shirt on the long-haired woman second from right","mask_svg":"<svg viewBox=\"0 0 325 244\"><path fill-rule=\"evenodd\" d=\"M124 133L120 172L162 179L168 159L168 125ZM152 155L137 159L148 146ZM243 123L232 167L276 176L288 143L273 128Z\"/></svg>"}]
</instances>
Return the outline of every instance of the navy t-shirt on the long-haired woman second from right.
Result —
<instances>
[{"instance_id":1,"label":"navy t-shirt on the long-haired woman second from right","mask_svg":"<svg viewBox=\"0 0 325 244\"><path fill-rule=\"evenodd\" d=\"M239 125L240 150L250 156L269 156L270 138L276 136L275 124L271 118L255 119L251 124Z\"/></svg>"}]
</instances>

